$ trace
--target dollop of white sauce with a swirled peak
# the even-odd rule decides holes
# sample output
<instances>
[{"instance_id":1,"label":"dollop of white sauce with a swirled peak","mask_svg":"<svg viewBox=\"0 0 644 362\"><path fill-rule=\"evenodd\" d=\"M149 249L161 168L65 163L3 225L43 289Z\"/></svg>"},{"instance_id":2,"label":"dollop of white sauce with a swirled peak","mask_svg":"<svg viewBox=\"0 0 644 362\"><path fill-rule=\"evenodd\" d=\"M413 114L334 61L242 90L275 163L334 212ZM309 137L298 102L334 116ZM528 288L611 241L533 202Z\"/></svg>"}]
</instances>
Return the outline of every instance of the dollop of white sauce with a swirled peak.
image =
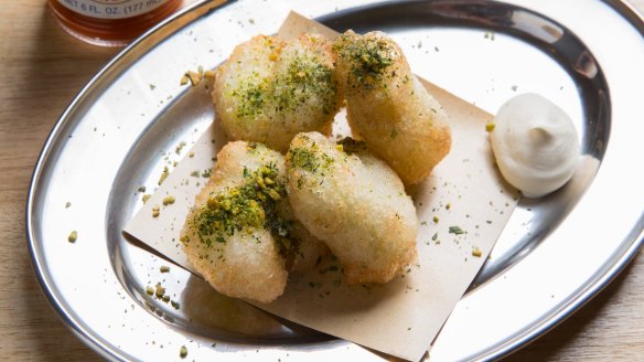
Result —
<instances>
[{"instance_id":1,"label":"dollop of white sauce with a swirled peak","mask_svg":"<svg viewBox=\"0 0 644 362\"><path fill-rule=\"evenodd\" d=\"M570 117L533 93L501 106L490 140L501 173L527 198L561 188L579 161L579 137Z\"/></svg>"}]
</instances>

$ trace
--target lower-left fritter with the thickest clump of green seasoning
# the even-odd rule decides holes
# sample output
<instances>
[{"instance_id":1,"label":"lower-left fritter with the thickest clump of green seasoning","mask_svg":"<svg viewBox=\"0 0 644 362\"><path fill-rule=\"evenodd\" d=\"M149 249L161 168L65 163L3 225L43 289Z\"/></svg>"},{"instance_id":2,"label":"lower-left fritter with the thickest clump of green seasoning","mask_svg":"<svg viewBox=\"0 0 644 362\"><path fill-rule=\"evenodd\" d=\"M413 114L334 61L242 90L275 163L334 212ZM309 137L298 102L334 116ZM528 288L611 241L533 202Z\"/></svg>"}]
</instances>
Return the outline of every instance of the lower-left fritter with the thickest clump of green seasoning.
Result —
<instances>
[{"instance_id":1,"label":"lower-left fritter with the thickest clump of green seasoning","mask_svg":"<svg viewBox=\"0 0 644 362\"><path fill-rule=\"evenodd\" d=\"M319 243L292 219L283 157L260 143L236 141L196 195L181 231L190 264L217 291L269 302L285 289L291 266ZM323 251L323 247L319 249ZM314 262L313 262L314 263Z\"/></svg>"}]
</instances>

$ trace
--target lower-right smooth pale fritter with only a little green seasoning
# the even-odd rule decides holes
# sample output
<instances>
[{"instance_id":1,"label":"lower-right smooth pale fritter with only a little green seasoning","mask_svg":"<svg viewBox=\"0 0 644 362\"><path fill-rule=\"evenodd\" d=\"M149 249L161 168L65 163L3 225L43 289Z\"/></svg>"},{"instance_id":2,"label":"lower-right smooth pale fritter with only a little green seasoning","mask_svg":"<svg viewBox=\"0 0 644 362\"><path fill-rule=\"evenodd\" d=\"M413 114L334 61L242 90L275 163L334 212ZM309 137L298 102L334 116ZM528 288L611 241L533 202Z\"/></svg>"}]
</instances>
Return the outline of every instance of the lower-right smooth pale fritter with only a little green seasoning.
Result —
<instances>
[{"instance_id":1,"label":"lower-right smooth pale fritter with only a little green seasoning","mask_svg":"<svg viewBox=\"0 0 644 362\"><path fill-rule=\"evenodd\" d=\"M416 210L385 162L351 151L318 132L296 136L287 153L289 200L348 284L387 283L416 259Z\"/></svg>"}]
</instances>

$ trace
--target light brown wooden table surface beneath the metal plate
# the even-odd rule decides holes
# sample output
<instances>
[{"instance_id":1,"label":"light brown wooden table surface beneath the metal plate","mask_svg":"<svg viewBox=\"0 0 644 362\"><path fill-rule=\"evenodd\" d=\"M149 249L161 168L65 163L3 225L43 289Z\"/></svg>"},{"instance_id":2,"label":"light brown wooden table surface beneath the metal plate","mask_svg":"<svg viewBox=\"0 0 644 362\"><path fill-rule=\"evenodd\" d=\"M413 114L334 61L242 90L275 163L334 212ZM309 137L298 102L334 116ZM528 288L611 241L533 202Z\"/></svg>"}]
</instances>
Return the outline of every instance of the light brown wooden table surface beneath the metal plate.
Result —
<instances>
[{"instance_id":1,"label":"light brown wooden table surface beneath the metal plate","mask_svg":"<svg viewBox=\"0 0 644 362\"><path fill-rule=\"evenodd\" d=\"M633 1L644 11L644 0ZM0 359L98 361L61 322L37 284L24 232L25 200L50 129L117 53L58 28L44 0L0 7ZM644 66L644 64L642 65ZM642 253L640 253L642 254ZM644 361L644 257L599 296L509 360Z\"/></svg>"}]
</instances>

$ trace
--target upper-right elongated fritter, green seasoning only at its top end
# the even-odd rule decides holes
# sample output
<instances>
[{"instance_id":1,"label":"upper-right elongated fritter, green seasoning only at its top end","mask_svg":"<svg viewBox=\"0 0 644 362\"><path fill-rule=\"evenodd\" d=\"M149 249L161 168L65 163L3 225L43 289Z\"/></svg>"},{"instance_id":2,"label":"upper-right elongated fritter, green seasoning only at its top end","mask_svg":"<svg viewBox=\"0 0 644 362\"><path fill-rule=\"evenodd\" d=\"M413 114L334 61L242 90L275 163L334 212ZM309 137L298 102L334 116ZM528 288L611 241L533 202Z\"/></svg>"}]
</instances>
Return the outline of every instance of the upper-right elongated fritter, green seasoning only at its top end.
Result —
<instances>
[{"instance_id":1,"label":"upper-right elongated fritter, green seasoning only at its top end","mask_svg":"<svg viewBox=\"0 0 644 362\"><path fill-rule=\"evenodd\" d=\"M358 35L350 30L334 50L354 136L406 184L420 182L450 150L448 115L385 33Z\"/></svg>"}]
</instances>

